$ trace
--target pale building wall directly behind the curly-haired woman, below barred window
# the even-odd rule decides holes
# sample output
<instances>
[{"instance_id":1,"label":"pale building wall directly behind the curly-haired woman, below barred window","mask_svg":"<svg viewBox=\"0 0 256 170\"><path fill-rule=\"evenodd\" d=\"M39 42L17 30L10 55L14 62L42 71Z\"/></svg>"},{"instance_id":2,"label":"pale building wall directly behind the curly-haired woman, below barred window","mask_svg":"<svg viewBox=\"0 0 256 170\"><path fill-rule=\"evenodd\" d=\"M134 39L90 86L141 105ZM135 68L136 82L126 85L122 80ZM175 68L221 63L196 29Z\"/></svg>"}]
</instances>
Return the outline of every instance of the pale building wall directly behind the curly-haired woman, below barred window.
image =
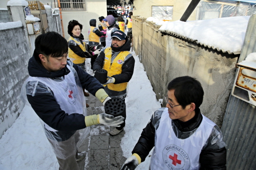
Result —
<instances>
[{"instance_id":1,"label":"pale building wall directly behind the curly-haired woman, below barred window","mask_svg":"<svg viewBox=\"0 0 256 170\"><path fill-rule=\"evenodd\" d=\"M63 21L63 28L65 38L68 39L70 35L68 34L68 23L70 20L75 19L81 25L82 28L82 35L84 39L88 39L88 30L90 28L89 21L91 19L96 19L98 26L99 17L104 16L106 17L106 0L88 0L87 2L87 11L62 11L62 21Z\"/></svg>"}]
</instances>

